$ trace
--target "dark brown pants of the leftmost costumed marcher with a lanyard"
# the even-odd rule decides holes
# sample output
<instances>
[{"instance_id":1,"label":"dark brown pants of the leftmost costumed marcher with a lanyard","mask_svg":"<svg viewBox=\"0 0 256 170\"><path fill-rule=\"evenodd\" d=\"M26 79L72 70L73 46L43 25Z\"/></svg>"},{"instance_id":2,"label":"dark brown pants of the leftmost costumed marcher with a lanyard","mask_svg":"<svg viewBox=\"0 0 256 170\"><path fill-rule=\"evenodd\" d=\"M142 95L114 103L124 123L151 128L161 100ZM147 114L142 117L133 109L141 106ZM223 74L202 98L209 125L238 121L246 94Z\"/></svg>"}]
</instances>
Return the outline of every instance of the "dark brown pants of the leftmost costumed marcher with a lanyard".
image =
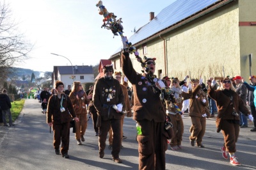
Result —
<instances>
[{"instance_id":1,"label":"dark brown pants of the leftmost costumed marcher with a lanyard","mask_svg":"<svg viewBox=\"0 0 256 170\"><path fill-rule=\"evenodd\" d=\"M68 153L69 148L69 133L70 122L67 123L52 123L53 130L53 147L55 150L60 149L61 154Z\"/></svg>"}]
</instances>

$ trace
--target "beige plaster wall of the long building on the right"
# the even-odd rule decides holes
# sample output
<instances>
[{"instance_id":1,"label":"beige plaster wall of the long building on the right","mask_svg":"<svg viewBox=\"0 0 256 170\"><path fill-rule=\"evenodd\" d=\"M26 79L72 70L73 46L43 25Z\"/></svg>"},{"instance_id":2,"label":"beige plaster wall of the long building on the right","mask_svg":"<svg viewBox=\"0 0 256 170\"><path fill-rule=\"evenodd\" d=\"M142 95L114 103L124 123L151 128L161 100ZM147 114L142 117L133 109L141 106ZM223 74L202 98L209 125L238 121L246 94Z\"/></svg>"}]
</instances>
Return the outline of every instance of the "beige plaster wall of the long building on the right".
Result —
<instances>
[{"instance_id":1,"label":"beige plaster wall of the long building on the right","mask_svg":"<svg viewBox=\"0 0 256 170\"><path fill-rule=\"evenodd\" d=\"M191 77L202 75L205 81L208 77L223 76L224 67L225 76L248 78L247 55L250 53L254 54L252 74L256 75L256 27L239 27L239 21L256 21L255 9L255 0L234 1L161 35L166 39L167 75L183 79L190 72ZM164 76L164 40L161 38L147 42L146 56L157 58L155 74L162 70ZM137 49L143 58L142 47ZM131 59L134 69L141 73L140 63L133 54Z\"/></svg>"}]
</instances>

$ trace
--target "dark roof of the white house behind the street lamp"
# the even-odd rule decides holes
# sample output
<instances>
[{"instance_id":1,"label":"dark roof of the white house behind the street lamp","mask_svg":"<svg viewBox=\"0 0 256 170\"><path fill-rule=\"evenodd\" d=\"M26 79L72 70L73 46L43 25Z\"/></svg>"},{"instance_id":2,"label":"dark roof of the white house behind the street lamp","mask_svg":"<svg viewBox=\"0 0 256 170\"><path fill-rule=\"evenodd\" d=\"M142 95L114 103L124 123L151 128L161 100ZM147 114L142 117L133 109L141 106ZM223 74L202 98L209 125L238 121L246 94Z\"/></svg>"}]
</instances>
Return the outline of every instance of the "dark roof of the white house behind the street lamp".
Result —
<instances>
[{"instance_id":1,"label":"dark roof of the white house behind the street lamp","mask_svg":"<svg viewBox=\"0 0 256 170\"><path fill-rule=\"evenodd\" d=\"M73 68L74 68L74 75L93 73L92 66L73 66ZM58 66L58 70L60 74L73 74L72 66Z\"/></svg>"}]
</instances>

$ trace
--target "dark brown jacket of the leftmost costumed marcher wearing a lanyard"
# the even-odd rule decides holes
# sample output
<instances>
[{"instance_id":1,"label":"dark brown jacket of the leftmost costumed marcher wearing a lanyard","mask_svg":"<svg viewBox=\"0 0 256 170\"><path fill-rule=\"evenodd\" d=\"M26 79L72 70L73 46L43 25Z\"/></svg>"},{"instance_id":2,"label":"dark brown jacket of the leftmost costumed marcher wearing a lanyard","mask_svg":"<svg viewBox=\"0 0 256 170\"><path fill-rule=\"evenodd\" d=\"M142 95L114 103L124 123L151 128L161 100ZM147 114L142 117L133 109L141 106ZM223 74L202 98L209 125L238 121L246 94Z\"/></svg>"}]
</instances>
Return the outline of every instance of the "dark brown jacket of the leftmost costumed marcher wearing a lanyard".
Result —
<instances>
[{"instance_id":1,"label":"dark brown jacket of the leftmost costumed marcher wearing a lanyard","mask_svg":"<svg viewBox=\"0 0 256 170\"><path fill-rule=\"evenodd\" d=\"M65 111L60 111L61 98L58 98L57 95L52 95L49 98L47 107L47 123L67 123L68 121L71 121L71 117L76 117L72 102L68 95L63 93L61 94L61 97L63 97L62 106L65 108Z\"/></svg>"}]
</instances>

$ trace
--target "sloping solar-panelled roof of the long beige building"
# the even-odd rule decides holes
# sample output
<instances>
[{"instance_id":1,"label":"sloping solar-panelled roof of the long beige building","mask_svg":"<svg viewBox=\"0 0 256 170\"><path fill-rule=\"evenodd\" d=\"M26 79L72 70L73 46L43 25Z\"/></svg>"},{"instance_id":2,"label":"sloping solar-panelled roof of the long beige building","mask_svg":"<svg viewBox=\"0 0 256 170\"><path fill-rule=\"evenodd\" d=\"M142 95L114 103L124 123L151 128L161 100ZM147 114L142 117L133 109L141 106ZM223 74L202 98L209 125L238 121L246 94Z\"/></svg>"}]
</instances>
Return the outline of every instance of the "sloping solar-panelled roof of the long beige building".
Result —
<instances>
[{"instance_id":1,"label":"sloping solar-panelled roof of the long beige building","mask_svg":"<svg viewBox=\"0 0 256 170\"><path fill-rule=\"evenodd\" d=\"M222 1L228 0L177 0L161 10L161 12L159 12L159 14L156 15L154 19L145 24L145 26L140 27L140 29L138 29L138 31L136 31L136 33L134 33L134 35L129 38L129 42L131 42L132 44L141 42L142 40L145 40L150 36L156 35L164 29L167 29L168 27L175 26L179 22L189 19L196 13L202 12L207 8L214 6L215 4L221 3ZM122 46L120 46L114 54L120 52L121 49ZM113 56L111 58L113 58Z\"/></svg>"}]
</instances>

